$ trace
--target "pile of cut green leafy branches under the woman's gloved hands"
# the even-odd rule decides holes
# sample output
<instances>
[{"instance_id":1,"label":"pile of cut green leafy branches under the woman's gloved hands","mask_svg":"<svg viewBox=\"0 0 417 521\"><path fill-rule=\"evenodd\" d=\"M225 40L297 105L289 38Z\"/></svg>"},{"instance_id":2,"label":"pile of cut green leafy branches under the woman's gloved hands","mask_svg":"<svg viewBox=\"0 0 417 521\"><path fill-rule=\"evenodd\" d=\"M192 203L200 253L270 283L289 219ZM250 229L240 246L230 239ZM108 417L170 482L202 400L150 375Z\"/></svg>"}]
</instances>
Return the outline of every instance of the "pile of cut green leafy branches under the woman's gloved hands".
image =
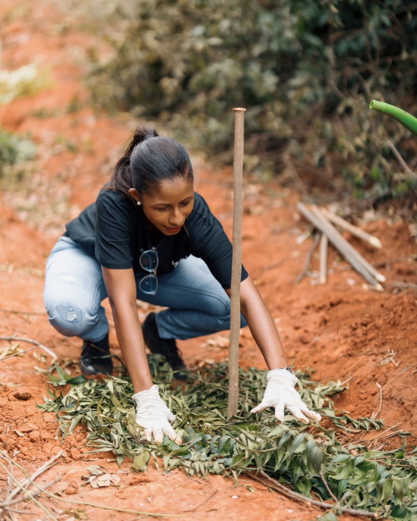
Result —
<instances>
[{"instance_id":1,"label":"pile of cut green leafy branches under the woman's gloved hands","mask_svg":"<svg viewBox=\"0 0 417 521\"><path fill-rule=\"evenodd\" d=\"M149 356L149 365L163 399L177 416L183 445L167 437L161 445L144 441L134 421L133 388L127 377L73 384L65 396L48 389L40 407L56 414L57 439L65 439L81 423L89 430L91 452L113 451L119 465L126 456L132 457L136 470L145 470L151 457L156 465L157 457L162 457L165 471L182 467L189 476L226 473L238 479L242 472L263 470L308 498L333 501L330 490L341 506L394 519L417 515L416 451L406 455L403 445L396 451L377 452L341 443L336 429L345 433L352 428L381 429L384 422L336 412L330 396L344 390L340 382L323 385L298 371L302 399L320 411L323 420L305 426L287 414L277 425L272 410L250 413L262 400L264 370L240 371L238 415L226 420L226 364L207 367L203 376L198 373L185 386L171 381L172 372L161 357Z\"/></svg>"}]
</instances>

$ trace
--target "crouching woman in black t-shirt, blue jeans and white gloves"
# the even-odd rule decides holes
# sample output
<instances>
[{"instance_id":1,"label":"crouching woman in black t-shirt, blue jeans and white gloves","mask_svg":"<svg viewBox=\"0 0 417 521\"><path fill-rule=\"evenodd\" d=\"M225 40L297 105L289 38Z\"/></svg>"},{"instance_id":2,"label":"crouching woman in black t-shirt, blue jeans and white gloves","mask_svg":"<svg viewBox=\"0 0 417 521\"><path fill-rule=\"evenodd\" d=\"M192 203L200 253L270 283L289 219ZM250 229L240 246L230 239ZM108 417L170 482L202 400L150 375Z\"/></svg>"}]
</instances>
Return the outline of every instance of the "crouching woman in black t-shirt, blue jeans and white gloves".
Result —
<instances>
[{"instance_id":1,"label":"crouching woman in black t-shirt, blue jeans and white gloves","mask_svg":"<svg viewBox=\"0 0 417 521\"><path fill-rule=\"evenodd\" d=\"M84 374L112 373L108 322L101 302L108 296L117 340L133 384L136 421L161 443L175 417L152 384L145 344L165 355L175 374L185 365L176 339L230 327L232 247L204 199L193 191L190 158L178 142L139 127L112 178L94 204L67 224L45 271L44 302L54 328L84 342ZM165 306L142 327L136 300ZM252 412L285 407L304 423L320 421L294 389L274 320L242 266L241 327L249 325L269 368L262 403Z\"/></svg>"}]
</instances>

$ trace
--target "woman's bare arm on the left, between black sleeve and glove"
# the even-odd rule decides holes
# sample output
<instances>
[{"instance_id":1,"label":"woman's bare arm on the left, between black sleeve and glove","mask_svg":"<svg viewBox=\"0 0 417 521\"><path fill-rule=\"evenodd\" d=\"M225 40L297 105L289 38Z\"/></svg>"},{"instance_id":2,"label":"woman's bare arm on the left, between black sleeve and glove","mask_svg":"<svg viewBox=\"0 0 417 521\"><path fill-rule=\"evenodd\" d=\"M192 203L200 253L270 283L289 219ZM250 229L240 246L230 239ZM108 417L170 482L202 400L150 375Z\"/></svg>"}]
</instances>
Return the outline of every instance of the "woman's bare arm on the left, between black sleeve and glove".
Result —
<instances>
[{"instance_id":1,"label":"woman's bare arm on the left, between black sleeve and glove","mask_svg":"<svg viewBox=\"0 0 417 521\"><path fill-rule=\"evenodd\" d=\"M136 305L133 269L102 267L108 300L112 307L117 340L135 393L152 387L142 328Z\"/></svg>"}]
</instances>

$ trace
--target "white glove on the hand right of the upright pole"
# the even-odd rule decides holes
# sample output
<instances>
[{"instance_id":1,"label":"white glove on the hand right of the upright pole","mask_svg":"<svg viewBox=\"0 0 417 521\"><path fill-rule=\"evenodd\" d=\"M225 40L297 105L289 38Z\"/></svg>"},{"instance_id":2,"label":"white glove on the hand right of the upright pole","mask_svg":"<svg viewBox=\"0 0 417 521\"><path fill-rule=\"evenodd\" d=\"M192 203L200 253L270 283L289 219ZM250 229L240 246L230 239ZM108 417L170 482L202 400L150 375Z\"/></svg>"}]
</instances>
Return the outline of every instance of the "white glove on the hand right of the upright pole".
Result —
<instances>
[{"instance_id":1,"label":"white glove on the hand right of the upright pole","mask_svg":"<svg viewBox=\"0 0 417 521\"><path fill-rule=\"evenodd\" d=\"M322 417L313 411L310 411L305 403L301 400L301 396L294 389L297 383L297 377L290 373L287 369L273 369L268 371L266 375L268 381L262 402L254 407L251 413L258 413L267 407L275 407L275 417L279 421L284 419L284 409L298 418L302 423L308 424L308 418L320 421Z\"/></svg>"}]
</instances>

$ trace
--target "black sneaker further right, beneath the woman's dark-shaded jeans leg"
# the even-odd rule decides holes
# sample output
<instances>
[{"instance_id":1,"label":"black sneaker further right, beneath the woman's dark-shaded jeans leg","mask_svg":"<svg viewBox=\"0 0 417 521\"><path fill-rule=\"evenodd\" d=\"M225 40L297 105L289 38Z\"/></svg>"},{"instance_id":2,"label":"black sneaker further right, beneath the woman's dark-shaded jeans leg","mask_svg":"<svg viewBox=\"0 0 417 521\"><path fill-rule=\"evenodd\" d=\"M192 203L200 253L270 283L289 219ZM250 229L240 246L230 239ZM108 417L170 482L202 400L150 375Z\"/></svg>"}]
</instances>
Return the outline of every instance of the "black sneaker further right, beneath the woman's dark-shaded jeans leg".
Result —
<instances>
[{"instance_id":1,"label":"black sneaker further right, beneath the woman's dark-shaded jeans leg","mask_svg":"<svg viewBox=\"0 0 417 521\"><path fill-rule=\"evenodd\" d=\"M142 332L145 344L152 353L164 355L168 364L174 370L174 378L178 380L186 380L187 375L183 371L187 371L187 367L181 358L180 351L173 338L161 338L156 327L155 313L150 313L143 322Z\"/></svg>"}]
</instances>

